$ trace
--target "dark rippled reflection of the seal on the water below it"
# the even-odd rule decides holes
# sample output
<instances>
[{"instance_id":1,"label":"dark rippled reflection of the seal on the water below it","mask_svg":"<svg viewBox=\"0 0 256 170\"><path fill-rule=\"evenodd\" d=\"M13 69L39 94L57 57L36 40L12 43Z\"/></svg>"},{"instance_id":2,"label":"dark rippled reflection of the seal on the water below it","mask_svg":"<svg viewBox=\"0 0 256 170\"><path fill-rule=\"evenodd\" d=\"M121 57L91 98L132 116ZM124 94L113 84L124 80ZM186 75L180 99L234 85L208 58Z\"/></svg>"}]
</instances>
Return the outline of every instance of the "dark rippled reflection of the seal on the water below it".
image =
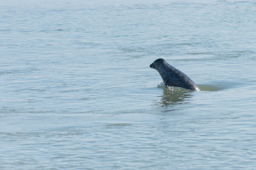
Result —
<instances>
[{"instance_id":1,"label":"dark rippled reflection of the seal on the water below it","mask_svg":"<svg viewBox=\"0 0 256 170\"><path fill-rule=\"evenodd\" d=\"M187 104L189 103L189 98L193 96L193 91L184 88L165 88L163 86L159 88L163 88L163 94L159 96L160 100L157 100L155 104L161 107Z\"/></svg>"}]
</instances>

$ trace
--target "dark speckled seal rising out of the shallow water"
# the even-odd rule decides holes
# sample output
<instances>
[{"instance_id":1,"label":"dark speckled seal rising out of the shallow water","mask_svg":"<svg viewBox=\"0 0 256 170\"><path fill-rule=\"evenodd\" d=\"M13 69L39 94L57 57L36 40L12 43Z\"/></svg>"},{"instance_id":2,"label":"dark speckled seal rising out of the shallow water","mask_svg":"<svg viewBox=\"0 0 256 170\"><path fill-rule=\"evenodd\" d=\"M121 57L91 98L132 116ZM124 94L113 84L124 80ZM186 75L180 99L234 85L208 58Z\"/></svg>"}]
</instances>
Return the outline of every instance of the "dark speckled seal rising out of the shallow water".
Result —
<instances>
[{"instance_id":1,"label":"dark speckled seal rising out of the shallow water","mask_svg":"<svg viewBox=\"0 0 256 170\"><path fill-rule=\"evenodd\" d=\"M158 71L166 86L186 88L193 91L200 91L200 88L186 74L168 64L164 59L156 59L150 68Z\"/></svg>"}]
</instances>

